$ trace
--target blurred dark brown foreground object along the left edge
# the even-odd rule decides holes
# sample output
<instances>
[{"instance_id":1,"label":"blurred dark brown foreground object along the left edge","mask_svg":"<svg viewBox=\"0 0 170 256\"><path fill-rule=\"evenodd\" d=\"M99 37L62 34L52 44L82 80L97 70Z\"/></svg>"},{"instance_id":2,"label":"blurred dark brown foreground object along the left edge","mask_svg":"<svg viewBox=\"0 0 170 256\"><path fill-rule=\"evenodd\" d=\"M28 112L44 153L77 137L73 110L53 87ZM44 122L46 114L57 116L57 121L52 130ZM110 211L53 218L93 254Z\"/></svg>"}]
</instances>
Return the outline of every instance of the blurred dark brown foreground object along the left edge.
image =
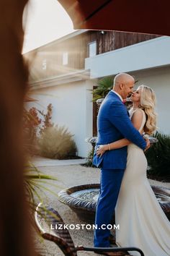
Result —
<instances>
[{"instance_id":1,"label":"blurred dark brown foreground object along the left edge","mask_svg":"<svg viewBox=\"0 0 170 256\"><path fill-rule=\"evenodd\" d=\"M22 112L27 67L22 59L22 13L27 0L0 3L0 255L34 256L24 193Z\"/></svg>"}]
</instances>

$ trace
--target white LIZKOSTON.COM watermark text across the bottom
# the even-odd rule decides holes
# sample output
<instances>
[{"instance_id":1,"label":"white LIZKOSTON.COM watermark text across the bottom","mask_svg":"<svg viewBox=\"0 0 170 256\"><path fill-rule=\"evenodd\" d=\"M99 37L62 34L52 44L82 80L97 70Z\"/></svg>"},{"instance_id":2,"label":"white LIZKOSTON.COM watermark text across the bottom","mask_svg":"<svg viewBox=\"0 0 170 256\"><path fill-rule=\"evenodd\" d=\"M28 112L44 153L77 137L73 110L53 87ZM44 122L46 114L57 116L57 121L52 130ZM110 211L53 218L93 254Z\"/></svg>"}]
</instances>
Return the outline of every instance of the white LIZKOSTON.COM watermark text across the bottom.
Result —
<instances>
[{"instance_id":1,"label":"white LIZKOSTON.COM watermark text across the bottom","mask_svg":"<svg viewBox=\"0 0 170 256\"><path fill-rule=\"evenodd\" d=\"M50 229L120 229L120 224L102 224L99 227L96 224L50 224Z\"/></svg>"}]
</instances>

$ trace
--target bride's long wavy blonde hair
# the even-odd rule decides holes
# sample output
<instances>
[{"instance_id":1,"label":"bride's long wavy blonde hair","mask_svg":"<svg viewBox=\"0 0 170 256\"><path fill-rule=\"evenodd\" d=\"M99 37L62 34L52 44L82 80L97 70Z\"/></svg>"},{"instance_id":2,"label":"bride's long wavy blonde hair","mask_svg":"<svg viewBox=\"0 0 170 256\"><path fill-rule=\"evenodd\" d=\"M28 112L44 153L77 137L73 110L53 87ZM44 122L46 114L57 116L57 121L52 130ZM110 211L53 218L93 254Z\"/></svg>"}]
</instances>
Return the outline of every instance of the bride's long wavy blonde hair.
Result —
<instances>
[{"instance_id":1,"label":"bride's long wavy blonde hair","mask_svg":"<svg viewBox=\"0 0 170 256\"><path fill-rule=\"evenodd\" d=\"M140 108L146 113L146 124L143 129L144 132L151 135L156 130L156 95L154 91L146 85L140 85L138 89L139 88L141 89Z\"/></svg>"}]
</instances>

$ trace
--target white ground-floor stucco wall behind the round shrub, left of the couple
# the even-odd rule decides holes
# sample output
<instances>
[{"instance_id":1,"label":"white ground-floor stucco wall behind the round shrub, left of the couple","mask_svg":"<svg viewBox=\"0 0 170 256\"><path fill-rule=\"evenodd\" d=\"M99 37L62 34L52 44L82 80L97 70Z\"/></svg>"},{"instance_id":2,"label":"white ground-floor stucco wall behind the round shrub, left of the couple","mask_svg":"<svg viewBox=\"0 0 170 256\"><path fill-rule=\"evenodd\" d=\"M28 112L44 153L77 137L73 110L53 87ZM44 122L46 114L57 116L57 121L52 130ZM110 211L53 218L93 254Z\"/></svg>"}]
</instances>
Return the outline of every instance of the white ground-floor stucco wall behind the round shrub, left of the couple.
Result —
<instances>
[{"instance_id":1,"label":"white ground-floor stucco wall behind the round shrub, left of the couple","mask_svg":"<svg viewBox=\"0 0 170 256\"><path fill-rule=\"evenodd\" d=\"M38 102L27 104L46 110L49 103L53 105L53 123L65 125L73 134L78 148L78 155L86 157L91 145L85 142L92 136L92 88L90 80L71 82L32 91L32 97Z\"/></svg>"}]
</instances>

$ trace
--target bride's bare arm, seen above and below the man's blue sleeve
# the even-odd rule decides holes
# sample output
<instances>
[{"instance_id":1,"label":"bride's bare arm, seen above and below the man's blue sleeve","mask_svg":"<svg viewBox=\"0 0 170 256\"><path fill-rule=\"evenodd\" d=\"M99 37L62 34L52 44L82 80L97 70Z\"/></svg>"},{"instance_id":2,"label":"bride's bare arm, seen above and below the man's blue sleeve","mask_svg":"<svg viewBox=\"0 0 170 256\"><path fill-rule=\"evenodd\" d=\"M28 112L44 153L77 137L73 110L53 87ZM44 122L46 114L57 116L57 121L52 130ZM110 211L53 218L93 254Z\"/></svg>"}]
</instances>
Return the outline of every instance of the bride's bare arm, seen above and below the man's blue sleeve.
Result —
<instances>
[{"instance_id":1,"label":"bride's bare arm, seen above and below the man's blue sleeve","mask_svg":"<svg viewBox=\"0 0 170 256\"><path fill-rule=\"evenodd\" d=\"M137 109L133 116L132 116L132 119L131 119L132 123L133 123L133 126L136 128L136 129L140 129L140 126L142 124L142 121L143 121L143 112L140 111L140 109ZM101 148L97 149L97 155L103 155L105 151L107 150L115 150L117 148L122 148L122 147L125 147L127 145L129 145L131 142L130 140L127 140L127 139L121 139L121 140L117 140L115 142L112 142L112 143L109 143L109 144L106 144L106 145L102 145Z\"/></svg>"}]
</instances>

